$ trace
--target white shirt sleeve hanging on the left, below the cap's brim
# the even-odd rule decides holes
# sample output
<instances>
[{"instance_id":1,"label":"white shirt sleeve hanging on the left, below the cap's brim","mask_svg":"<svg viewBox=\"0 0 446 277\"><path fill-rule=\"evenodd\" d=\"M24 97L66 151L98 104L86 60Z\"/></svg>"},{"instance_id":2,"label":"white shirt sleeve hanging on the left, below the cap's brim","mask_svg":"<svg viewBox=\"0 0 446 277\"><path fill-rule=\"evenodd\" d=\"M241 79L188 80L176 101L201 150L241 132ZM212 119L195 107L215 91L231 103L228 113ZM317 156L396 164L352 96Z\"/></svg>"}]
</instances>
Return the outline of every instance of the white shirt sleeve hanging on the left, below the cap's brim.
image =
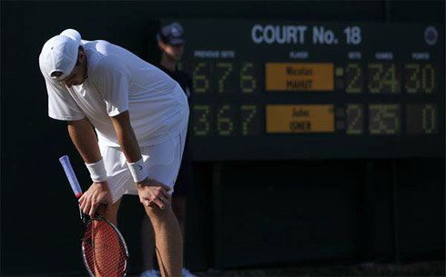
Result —
<instances>
[{"instance_id":1,"label":"white shirt sleeve hanging on the left, below the cap's brim","mask_svg":"<svg viewBox=\"0 0 446 277\"><path fill-rule=\"evenodd\" d=\"M48 116L57 120L71 121L85 117L66 86L45 78L48 93Z\"/></svg>"}]
</instances>

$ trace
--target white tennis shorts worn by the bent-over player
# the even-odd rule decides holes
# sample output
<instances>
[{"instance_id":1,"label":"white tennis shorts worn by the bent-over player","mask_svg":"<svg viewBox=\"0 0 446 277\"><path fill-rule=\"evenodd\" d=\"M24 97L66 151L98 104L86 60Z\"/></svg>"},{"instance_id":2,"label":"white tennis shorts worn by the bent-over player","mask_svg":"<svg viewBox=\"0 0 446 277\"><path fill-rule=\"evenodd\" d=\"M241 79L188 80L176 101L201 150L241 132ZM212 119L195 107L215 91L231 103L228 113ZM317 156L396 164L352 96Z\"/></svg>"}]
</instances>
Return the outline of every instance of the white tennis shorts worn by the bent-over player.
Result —
<instances>
[{"instance_id":1,"label":"white tennis shorts worn by the bent-over player","mask_svg":"<svg viewBox=\"0 0 446 277\"><path fill-rule=\"evenodd\" d=\"M147 166L148 178L167 184L169 193L174 192L188 126L177 136L164 143L141 146L143 161ZM99 146L106 165L108 186L113 195L113 203L124 194L137 195L137 186L127 166L127 160L120 147Z\"/></svg>"}]
</instances>

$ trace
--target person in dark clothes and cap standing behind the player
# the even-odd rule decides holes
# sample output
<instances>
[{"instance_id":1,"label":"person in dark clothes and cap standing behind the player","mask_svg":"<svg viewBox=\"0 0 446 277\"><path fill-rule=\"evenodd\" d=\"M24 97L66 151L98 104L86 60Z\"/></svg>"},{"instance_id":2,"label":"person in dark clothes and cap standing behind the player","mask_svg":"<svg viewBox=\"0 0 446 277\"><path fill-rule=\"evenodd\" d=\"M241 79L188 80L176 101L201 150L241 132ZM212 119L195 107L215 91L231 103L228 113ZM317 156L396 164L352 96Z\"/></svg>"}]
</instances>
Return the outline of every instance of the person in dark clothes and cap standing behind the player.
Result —
<instances>
[{"instance_id":1,"label":"person in dark clothes and cap standing behind the player","mask_svg":"<svg viewBox=\"0 0 446 277\"><path fill-rule=\"evenodd\" d=\"M192 94L192 79L190 76L178 70L178 63L183 56L184 30L178 23L163 26L157 34L158 47L161 50L161 60L158 67L176 80L190 101ZM185 238L186 210L188 201L188 189L193 183L192 157L189 149L188 136L186 137L183 160L175 184L175 193L172 195L172 209L177 215L177 220ZM152 224L147 216L144 216L141 224L141 241L143 256L143 272L141 277L156 277L159 272L154 269L155 238ZM185 241L185 240L184 240ZM182 269L182 276L195 277L188 269Z\"/></svg>"}]
</instances>

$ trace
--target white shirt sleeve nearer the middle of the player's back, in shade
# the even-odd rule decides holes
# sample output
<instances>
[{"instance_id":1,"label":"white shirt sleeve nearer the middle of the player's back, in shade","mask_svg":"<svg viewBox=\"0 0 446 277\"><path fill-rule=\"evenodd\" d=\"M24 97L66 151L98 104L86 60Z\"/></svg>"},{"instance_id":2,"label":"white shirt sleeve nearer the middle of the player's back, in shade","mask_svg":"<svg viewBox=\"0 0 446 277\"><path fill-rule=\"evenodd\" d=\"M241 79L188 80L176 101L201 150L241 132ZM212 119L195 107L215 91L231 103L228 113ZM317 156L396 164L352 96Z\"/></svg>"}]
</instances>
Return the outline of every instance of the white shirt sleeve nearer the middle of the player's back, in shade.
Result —
<instances>
[{"instance_id":1,"label":"white shirt sleeve nearer the middle of the player's back, in shade","mask_svg":"<svg viewBox=\"0 0 446 277\"><path fill-rule=\"evenodd\" d=\"M102 58L95 66L92 78L96 90L106 102L106 113L115 116L128 110L128 75L119 57Z\"/></svg>"}]
</instances>

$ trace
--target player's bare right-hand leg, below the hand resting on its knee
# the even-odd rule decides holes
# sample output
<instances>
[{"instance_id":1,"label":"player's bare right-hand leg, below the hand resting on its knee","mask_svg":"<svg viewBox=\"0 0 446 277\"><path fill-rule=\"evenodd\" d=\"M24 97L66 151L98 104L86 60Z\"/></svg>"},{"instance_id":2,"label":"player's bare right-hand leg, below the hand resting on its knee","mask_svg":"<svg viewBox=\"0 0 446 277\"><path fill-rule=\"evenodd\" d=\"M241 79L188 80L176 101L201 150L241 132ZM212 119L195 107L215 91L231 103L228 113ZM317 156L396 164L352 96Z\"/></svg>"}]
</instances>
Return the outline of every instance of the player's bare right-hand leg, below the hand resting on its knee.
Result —
<instances>
[{"instance_id":1,"label":"player's bare right-hand leg, below the hand resting on its knee","mask_svg":"<svg viewBox=\"0 0 446 277\"><path fill-rule=\"evenodd\" d=\"M159 209L157 205L145 208L155 232L155 246L161 276L181 276L183 239L171 205L167 205L164 210Z\"/></svg>"}]
</instances>

